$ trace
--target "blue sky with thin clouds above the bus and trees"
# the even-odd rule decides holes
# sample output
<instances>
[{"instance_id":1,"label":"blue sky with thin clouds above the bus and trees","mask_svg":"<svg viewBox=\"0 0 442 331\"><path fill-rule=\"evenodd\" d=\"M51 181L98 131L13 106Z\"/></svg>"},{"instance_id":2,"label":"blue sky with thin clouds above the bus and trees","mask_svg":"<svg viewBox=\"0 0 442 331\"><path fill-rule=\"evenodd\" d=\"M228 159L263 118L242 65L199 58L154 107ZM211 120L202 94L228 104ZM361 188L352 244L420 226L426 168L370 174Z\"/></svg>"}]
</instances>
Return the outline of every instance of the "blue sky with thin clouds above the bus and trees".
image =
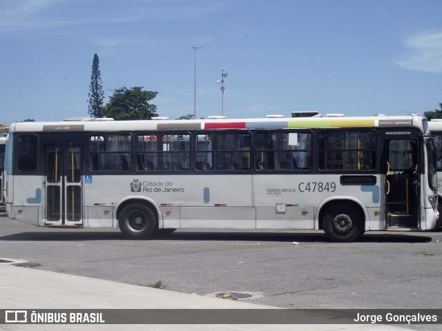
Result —
<instances>
[{"instance_id":1,"label":"blue sky with thin clouds above the bus and trees","mask_svg":"<svg viewBox=\"0 0 442 331\"><path fill-rule=\"evenodd\" d=\"M93 55L106 97L157 91L160 116L292 111L423 114L442 102L440 0L2 0L0 123L88 116ZM107 100L107 98L106 98Z\"/></svg>"}]
</instances>

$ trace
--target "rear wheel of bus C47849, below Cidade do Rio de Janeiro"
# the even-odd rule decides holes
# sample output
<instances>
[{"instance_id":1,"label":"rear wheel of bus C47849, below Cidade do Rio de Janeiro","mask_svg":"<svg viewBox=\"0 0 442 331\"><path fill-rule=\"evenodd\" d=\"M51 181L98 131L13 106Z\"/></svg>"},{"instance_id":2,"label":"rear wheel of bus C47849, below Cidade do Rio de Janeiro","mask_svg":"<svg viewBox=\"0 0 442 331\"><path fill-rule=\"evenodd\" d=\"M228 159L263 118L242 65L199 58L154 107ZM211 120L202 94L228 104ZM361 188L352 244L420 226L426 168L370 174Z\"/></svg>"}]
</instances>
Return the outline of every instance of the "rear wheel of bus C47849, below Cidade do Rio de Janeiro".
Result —
<instances>
[{"instance_id":1,"label":"rear wheel of bus C47849, below Cidade do Rio de Janeiro","mask_svg":"<svg viewBox=\"0 0 442 331\"><path fill-rule=\"evenodd\" d=\"M131 203L119 213L118 225L128 239L147 239L157 228L157 217L148 206Z\"/></svg>"}]
</instances>

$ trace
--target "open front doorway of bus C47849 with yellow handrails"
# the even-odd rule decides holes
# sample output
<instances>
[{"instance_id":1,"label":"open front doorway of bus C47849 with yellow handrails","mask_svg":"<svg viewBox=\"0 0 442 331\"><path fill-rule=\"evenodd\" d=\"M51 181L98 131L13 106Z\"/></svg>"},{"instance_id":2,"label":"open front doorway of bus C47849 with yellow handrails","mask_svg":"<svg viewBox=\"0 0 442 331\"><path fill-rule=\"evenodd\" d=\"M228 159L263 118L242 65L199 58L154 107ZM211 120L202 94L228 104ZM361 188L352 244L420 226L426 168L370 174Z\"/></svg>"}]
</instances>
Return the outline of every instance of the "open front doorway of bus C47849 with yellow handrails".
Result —
<instances>
[{"instance_id":1,"label":"open front doorway of bus C47849 with yellow handrails","mask_svg":"<svg viewBox=\"0 0 442 331\"><path fill-rule=\"evenodd\" d=\"M387 230L419 228L419 141L387 140Z\"/></svg>"}]
</instances>

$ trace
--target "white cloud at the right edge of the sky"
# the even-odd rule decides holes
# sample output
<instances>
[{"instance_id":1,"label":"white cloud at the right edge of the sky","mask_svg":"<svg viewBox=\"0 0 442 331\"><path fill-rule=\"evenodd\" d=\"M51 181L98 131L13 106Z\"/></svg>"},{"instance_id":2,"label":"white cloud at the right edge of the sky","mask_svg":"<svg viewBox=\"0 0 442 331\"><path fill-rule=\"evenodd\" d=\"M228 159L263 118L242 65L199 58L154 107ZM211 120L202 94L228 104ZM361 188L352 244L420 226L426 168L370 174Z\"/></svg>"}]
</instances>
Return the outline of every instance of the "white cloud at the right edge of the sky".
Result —
<instances>
[{"instance_id":1,"label":"white cloud at the right edge of the sky","mask_svg":"<svg viewBox=\"0 0 442 331\"><path fill-rule=\"evenodd\" d=\"M442 31L414 34L405 40L408 50L396 64L423 72L442 72Z\"/></svg>"}]
</instances>

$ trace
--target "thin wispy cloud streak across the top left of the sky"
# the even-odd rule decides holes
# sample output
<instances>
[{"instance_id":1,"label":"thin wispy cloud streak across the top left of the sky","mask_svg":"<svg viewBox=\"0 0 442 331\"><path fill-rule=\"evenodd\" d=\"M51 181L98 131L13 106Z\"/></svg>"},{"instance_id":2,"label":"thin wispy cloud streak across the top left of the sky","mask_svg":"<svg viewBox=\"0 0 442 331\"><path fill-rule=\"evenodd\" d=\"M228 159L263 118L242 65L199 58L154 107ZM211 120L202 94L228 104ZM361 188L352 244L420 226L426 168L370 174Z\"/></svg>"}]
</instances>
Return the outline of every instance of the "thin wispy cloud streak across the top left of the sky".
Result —
<instances>
[{"instance_id":1,"label":"thin wispy cloud streak across the top left of the sky","mask_svg":"<svg viewBox=\"0 0 442 331\"><path fill-rule=\"evenodd\" d=\"M180 21L224 8L222 3L204 0L0 1L0 28L3 32L14 32L134 21Z\"/></svg>"}]
</instances>

